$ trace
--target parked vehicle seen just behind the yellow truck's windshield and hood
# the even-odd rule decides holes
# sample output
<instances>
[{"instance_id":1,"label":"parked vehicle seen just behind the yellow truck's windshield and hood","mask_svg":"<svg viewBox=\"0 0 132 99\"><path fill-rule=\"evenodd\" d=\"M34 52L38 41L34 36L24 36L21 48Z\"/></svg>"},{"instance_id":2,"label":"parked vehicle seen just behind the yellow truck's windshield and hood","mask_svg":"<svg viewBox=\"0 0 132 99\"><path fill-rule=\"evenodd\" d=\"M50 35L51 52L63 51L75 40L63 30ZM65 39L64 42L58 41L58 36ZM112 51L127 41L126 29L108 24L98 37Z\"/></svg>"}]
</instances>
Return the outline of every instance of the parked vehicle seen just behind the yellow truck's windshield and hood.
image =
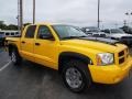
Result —
<instances>
[{"instance_id":1,"label":"parked vehicle seen just behind the yellow truck's windshield and hood","mask_svg":"<svg viewBox=\"0 0 132 99\"><path fill-rule=\"evenodd\" d=\"M95 37L106 37L106 33L101 32L98 28L87 26L81 29L86 34Z\"/></svg>"}]
</instances>

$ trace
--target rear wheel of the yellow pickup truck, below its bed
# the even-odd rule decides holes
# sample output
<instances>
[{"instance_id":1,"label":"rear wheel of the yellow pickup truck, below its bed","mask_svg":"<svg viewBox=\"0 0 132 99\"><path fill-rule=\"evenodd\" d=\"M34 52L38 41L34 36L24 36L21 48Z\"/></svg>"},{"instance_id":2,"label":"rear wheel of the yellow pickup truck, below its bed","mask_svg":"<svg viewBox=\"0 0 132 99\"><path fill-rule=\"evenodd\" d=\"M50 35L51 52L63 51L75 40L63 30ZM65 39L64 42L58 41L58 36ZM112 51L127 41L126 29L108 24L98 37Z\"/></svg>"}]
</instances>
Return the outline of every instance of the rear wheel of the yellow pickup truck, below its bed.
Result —
<instances>
[{"instance_id":1,"label":"rear wheel of the yellow pickup truck, below its bed","mask_svg":"<svg viewBox=\"0 0 132 99\"><path fill-rule=\"evenodd\" d=\"M13 50L11 51L11 61L12 61L12 63L13 63L14 65L20 65L21 62L22 62L22 58L21 58L21 56L19 55L19 52L18 52L16 48L13 48Z\"/></svg>"}]
</instances>

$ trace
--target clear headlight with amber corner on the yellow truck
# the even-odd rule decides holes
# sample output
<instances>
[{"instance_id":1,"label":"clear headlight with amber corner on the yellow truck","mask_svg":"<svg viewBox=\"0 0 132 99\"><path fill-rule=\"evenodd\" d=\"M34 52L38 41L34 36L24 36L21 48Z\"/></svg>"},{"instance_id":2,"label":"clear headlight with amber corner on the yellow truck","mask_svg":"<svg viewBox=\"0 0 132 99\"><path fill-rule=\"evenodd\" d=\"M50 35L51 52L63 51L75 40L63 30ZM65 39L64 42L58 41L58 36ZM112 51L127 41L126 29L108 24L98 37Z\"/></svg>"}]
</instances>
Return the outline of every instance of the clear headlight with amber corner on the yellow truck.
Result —
<instances>
[{"instance_id":1,"label":"clear headlight with amber corner on the yellow truck","mask_svg":"<svg viewBox=\"0 0 132 99\"><path fill-rule=\"evenodd\" d=\"M101 53L97 54L97 65L103 66L103 65L110 65L113 64L113 54L111 53Z\"/></svg>"}]
</instances>

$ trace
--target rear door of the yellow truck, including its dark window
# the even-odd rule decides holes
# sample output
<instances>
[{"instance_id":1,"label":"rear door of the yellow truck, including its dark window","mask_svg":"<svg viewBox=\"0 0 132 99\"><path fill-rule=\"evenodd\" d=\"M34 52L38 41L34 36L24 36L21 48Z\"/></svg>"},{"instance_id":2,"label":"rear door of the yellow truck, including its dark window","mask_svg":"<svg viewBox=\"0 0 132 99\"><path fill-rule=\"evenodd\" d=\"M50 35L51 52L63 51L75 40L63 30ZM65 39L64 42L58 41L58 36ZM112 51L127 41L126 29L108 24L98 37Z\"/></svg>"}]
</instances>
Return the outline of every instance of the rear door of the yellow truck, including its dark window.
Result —
<instances>
[{"instance_id":1,"label":"rear door of the yellow truck, including its dark window","mask_svg":"<svg viewBox=\"0 0 132 99\"><path fill-rule=\"evenodd\" d=\"M24 58L34 61L34 35L36 25L30 25L25 30L21 38L21 54Z\"/></svg>"}]
</instances>

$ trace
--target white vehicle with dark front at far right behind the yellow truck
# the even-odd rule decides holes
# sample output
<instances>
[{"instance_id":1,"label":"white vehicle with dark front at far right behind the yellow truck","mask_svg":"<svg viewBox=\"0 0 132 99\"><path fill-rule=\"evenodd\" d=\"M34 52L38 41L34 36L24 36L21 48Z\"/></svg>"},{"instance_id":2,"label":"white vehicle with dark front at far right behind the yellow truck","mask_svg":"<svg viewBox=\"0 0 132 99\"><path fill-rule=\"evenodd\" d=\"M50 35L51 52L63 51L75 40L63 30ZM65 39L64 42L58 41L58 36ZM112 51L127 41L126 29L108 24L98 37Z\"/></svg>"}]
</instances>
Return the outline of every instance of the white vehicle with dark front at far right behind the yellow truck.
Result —
<instances>
[{"instance_id":1,"label":"white vehicle with dark front at far right behind the yellow truck","mask_svg":"<svg viewBox=\"0 0 132 99\"><path fill-rule=\"evenodd\" d=\"M107 37L118 40L127 45L132 45L132 34L127 34L121 29L107 29L103 32L107 34Z\"/></svg>"}]
</instances>

